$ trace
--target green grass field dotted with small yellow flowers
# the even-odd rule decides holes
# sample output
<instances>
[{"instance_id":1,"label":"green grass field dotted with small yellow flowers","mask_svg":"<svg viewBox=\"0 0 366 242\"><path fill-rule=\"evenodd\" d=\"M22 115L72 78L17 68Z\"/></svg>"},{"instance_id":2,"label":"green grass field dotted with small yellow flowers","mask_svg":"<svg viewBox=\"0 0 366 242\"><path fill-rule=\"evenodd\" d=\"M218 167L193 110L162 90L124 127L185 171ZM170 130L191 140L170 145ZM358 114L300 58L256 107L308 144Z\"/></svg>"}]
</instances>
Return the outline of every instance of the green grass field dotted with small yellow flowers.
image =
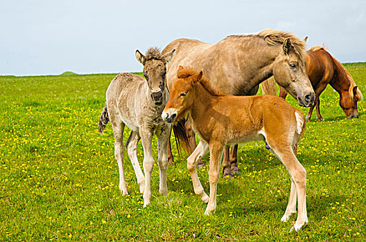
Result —
<instances>
[{"instance_id":1,"label":"green grass field dotted with small yellow flowers","mask_svg":"<svg viewBox=\"0 0 366 242\"><path fill-rule=\"evenodd\" d=\"M366 63L345 66L366 95ZM177 165L168 167L168 197L159 196L155 165L152 203L143 208L127 155L129 195L121 196L112 127L107 125L104 136L97 128L113 77L0 77L1 241L366 239L365 101L358 104L360 118L347 120L331 86L321 95L326 121L308 123L299 142L309 223L290 234L295 217L280 221L290 178L263 142L239 148L241 173L220 178L212 216L204 216L206 205L194 195L186 158L178 158L175 147ZM292 97L288 102L299 108ZM125 130L125 139L128 134ZM156 151L156 139L153 147ZM142 160L141 147L138 156ZM207 156L203 160L208 164ZM209 192L207 167L198 173Z\"/></svg>"}]
</instances>

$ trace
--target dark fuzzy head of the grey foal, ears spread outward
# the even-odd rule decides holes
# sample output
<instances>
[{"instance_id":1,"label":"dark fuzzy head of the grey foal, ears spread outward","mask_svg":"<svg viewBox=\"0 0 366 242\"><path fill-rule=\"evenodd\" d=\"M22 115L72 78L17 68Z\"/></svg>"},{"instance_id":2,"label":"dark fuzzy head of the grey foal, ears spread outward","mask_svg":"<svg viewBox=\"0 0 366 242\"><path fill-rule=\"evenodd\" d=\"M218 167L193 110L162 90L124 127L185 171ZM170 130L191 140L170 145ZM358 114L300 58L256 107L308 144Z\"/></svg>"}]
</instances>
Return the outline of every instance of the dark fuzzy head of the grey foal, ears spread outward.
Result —
<instances>
[{"instance_id":1,"label":"dark fuzzy head of the grey foal, ears spread outward","mask_svg":"<svg viewBox=\"0 0 366 242\"><path fill-rule=\"evenodd\" d=\"M146 55L142 55L136 50L137 60L143 64L143 76L148 82L150 96L157 105L163 102L163 94L165 90L166 80L166 64L173 58L175 50L165 55L160 53L159 48L149 48Z\"/></svg>"}]
</instances>

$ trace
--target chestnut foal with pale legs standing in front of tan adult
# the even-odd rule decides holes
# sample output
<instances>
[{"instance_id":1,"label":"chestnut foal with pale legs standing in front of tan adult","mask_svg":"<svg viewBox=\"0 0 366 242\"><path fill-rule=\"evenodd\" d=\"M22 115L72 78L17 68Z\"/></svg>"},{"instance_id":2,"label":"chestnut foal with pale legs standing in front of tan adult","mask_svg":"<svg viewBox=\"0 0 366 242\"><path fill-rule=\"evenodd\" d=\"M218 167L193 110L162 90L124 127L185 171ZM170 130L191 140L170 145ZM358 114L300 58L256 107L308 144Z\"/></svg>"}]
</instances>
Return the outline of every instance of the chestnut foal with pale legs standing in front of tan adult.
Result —
<instances>
[{"instance_id":1,"label":"chestnut foal with pale legs standing in front of tan adult","mask_svg":"<svg viewBox=\"0 0 366 242\"><path fill-rule=\"evenodd\" d=\"M251 140L265 140L284 163L291 178L290 198L281 221L288 221L296 212L297 221L291 230L298 231L308 223L306 213L306 171L296 158L297 142L304 133L305 118L280 97L223 95L211 88L207 78L191 69L179 67L177 80L171 86L168 103L162 113L166 122L176 122L187 113L200 143L187 159L195 194L208 201L205 214L216 210L216 190L220 161L225 145ZM210 151L210 196L195 171L198 160Z\"/></svg>"}]
</instances>

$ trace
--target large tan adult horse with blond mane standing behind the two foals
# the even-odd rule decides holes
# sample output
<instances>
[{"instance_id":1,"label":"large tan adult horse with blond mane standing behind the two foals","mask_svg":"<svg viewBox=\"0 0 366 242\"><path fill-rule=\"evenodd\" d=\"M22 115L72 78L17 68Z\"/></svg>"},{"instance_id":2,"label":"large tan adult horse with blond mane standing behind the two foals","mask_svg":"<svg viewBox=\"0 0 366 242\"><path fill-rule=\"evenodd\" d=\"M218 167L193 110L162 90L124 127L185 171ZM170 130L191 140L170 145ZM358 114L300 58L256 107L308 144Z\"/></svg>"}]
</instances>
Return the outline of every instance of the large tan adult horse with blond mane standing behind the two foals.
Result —
<instances>
[{"instance_id":1,"label":"large tan adult horse with blond mane standing behind the two foals","mask_svg":"<svg viewBox=\"0 0 366 242\"><path fill-rule=\"evenodd\" d=\"M176 39L162 53L176 50L166 73L169 89L179 65L203 70L214 89L229 95L255 95L259 84L273 75L280 86L297 97L300 106L311 106L315 93L306 75L304 47L302 39L288 32L262 30L251 35L231 35L217 44ZM189 126L186 128L193 151L194 133ZM223 176L238 171L236 159L229 160L229 147L225 148L223 168Z\"/></svg>"}]
</instances>

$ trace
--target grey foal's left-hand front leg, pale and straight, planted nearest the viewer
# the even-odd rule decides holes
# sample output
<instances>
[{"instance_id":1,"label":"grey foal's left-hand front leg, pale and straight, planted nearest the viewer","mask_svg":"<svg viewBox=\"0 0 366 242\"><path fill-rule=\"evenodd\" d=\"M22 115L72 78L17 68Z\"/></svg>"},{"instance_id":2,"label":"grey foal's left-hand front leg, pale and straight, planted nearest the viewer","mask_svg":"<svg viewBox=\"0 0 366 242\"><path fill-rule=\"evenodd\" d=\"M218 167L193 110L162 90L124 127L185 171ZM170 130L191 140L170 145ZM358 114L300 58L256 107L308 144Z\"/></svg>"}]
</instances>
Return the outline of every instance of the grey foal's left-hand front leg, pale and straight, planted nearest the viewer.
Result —
<instances>
[{"instance_id":1,"label":"grey foal's left-hand front leg, pale and straight, planted nearest the viewer","mask_svg":"<svg viewBox=\"0 0 366 242\"><path fill-rule=\"evenodd\" d=\"M151 152L153 130L150 127L140 127L140 136L143 147L143 172L145 173L145 189L143 191L143 207L150 204L151 198L151 173L154 167L154 158Z\"/></svg>"}]
</instances>

